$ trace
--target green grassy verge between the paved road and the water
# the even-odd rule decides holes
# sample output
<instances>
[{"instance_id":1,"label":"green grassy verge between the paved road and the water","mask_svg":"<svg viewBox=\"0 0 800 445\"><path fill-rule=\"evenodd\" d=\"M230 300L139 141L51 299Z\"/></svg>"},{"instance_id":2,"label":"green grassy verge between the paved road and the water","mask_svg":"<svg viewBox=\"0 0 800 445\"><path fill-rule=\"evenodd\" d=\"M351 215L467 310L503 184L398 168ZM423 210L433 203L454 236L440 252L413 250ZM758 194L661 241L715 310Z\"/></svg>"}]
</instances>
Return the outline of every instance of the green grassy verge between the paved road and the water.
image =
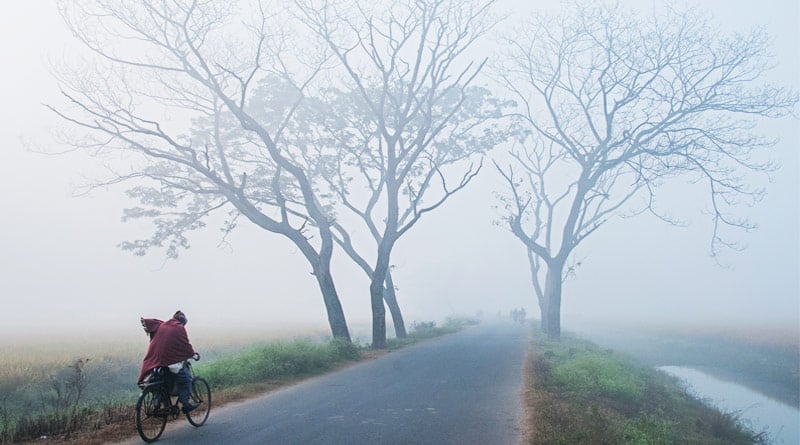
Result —
<instances>
[{"instance_id":1,"label":"green grassy verge between the paved road and the water","mask_svg":"<svg viewBox=\"0 0 800 445\"><path fill-rule=\"evenodd\" d=\"M572 335L533 335L526 402L531 444L760 444L734 413L678 379Z\"/></svg>"}]
</instances>

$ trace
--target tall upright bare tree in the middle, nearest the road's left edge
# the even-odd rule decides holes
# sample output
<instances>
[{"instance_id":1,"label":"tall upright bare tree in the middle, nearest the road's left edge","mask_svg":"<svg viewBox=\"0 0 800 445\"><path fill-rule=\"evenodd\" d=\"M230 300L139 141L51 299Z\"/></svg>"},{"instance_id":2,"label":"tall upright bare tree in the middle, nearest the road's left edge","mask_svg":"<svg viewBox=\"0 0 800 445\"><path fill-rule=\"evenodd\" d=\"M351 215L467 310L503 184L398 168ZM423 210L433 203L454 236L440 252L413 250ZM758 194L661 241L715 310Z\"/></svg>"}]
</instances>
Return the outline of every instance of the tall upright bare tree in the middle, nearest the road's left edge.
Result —
<instances>
[{"instance_id":1,"label":"tall upright bare tree in the middle, nearest the road's left edge","mask_svg":"<svg viewBox=\"0 0 800 445\"><path fill-rule=\"evenodd\" d=\"M344 174L330 185L376 244L374 265L368 266L346 232L339 232L342 246L370 274L372 346L384 348L383 300L393 294L387 280L395 243L463 189L482 164L470 162L455 174L446 167L456 170L495 143L484 125L492 111L473 103L480 95L470 92L485 61L462 62L493 24L493 2L297 3L306 25L340 64L337 79L347 102L338 101L339 118L328 121L327 131L347 156L336 160L335 170ZM354 181L367 191L363 201L352 193Z\"/></svg>"}]
</instances>

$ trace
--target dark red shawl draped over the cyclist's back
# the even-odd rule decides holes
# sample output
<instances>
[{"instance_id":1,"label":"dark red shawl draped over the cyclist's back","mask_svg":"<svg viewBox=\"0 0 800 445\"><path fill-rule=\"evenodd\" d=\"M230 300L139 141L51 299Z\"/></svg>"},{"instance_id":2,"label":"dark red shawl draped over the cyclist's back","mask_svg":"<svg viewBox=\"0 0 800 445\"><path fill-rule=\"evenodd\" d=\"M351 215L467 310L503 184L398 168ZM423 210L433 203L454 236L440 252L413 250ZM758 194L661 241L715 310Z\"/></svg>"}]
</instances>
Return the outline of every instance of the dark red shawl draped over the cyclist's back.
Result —
<instances>
[{"instance_id":1,"label":"dark red shawl draped over the cyclist's back","mask_svg":"<svg viewBox=\"0 0 800 445\"><path fill-rule=\"evenodd\" d=\"M180 321L174 318L167 321L145 318L142 324L145 331L150 334L150 347L144 356L138 382L144 380L147 374L158 366L182 362L194 355L189 335Z\"/></svg>"}]
</instances>

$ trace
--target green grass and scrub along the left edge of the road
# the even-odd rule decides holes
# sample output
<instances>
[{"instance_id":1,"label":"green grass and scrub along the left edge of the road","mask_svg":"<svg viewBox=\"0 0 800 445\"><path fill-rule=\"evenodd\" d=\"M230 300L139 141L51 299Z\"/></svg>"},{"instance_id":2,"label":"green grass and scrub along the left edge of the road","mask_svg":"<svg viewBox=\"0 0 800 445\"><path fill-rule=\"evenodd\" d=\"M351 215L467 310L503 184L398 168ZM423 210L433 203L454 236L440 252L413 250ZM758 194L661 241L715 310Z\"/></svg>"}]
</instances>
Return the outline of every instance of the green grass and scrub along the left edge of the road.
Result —
<instances>
[{"instance_id":1,"label":"green grass and scrub along the left edge of the road","mask_svg":"<svg viewBox=\"0 0 800 445\"><path fill-rule=\"evenodd\" d=\"M407 338L390 340L391 349L475 323L414 323ZM211 384L218 407L375 356L370 345L329 338L312 334L249 346L226 339L204 354L195 372ZM0 444L95 444L135 434L133 407L139 391L132 380L144 353L140 349L95 345L78 358L51 348L3 351L8 360L0 364Z\"/></svg>"}]
</instances>

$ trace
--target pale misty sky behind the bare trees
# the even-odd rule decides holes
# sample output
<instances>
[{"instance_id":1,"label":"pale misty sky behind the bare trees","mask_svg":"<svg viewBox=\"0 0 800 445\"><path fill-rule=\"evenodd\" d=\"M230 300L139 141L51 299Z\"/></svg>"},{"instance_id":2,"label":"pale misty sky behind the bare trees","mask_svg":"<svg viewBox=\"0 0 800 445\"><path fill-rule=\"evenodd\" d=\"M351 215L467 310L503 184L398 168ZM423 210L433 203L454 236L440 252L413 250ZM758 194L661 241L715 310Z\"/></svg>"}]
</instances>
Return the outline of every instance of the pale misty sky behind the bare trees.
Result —
<instances>
[{"instance_id":1,"label":"pale misty sky behind the bare trees","mask_svg":"<svg viewBox=\"0 0 800 445\"><path fill-rule=\"evenodd\" d=\"M530 9L527 1L502 8ZM646 2L631 2L644 4ZM553 6L553 3L547 3ZM698 1L724 29L763 25L774 39L774 80L798 88L798 2ZM325 323L310 267L278 235L242 224L220 245L209 226L190 238L177 261L162 252L134 257L117 248L146 234L140 223L120 222L124 187L75 197L98 162L56 151L50 136L63 123L42 103L57 103L51 62L75 51L51 1L8 2L0 13L0 298L3 324L12 329L61 331L70 326L138 330L140 315L167 317L181 308L194 329L215 323ZM759 228L743 234L748 249L725 253L722 268L709 257L711 226L702 203L682 179L668 202L691 223L672 227L643 215L615 219L577 252L582 266L564 286L566 329L582 320L741 322L800 320L798 120L764 128L780 137L772 157L783 167L768 195L741 209ZM524 306L536 315L525 250L493 224L492 190L502 182L491 169L441 211L428 215L397 245L393 264L406 320L507 313ZM666 201L665 201L666 202ZM486 205L476 205L486 203ZM334 279L348 321L369 318L368 281L337 252ZM336 260L338 258L338 260Z\"/></svg>"}]
</instances>

